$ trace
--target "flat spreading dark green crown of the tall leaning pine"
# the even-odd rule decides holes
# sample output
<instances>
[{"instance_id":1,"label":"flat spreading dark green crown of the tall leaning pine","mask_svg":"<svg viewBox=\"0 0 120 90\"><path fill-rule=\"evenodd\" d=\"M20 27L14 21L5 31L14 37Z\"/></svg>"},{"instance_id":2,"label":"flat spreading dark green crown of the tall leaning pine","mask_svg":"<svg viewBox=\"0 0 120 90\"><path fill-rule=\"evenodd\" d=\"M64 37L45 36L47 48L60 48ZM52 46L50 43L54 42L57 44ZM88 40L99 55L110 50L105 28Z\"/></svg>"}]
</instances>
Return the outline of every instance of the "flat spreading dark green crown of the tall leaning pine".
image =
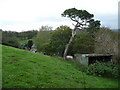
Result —
<instances>
[{"instance_id":1,"label":"flat spreading dark green crown of the tall leaning pine","mask_svg":"<svg viewBox=\"0 0 120 90\"><path fill-rule=\"evenodd\" d=\"M99 28L100 27L100 21L92 19L94 17L93 14L90 14L86 10L77 10L76 8L70 8L66 9L62 13L63 17L68 17L72 21L76 22L75 29L78 28L86 28L85 26L88 26L89 28Z\"/></svg>"}]
</instances>

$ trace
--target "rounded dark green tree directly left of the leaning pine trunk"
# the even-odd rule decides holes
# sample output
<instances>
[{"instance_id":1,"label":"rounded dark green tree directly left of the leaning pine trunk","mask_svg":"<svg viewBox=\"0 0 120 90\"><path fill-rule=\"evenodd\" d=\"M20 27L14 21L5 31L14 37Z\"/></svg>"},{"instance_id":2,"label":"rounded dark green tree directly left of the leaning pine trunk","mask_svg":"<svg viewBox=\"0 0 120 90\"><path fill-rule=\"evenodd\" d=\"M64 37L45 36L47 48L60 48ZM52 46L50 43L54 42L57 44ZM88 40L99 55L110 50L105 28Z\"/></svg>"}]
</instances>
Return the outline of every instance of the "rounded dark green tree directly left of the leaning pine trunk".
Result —
<instances>
[{"instance_id":1,"label":"rounded dark green tree directly left of the leaning pine trunk","mask_svg":"<svg viewBox=\"0 0 120 90\"><path fill-rule=\"evenodd\" d=\"M60 26L51 32L50 43L46 46L46 52L62 56L65 45L70 36L71 29L68 26Z\"/></svg>"}]
</instances>

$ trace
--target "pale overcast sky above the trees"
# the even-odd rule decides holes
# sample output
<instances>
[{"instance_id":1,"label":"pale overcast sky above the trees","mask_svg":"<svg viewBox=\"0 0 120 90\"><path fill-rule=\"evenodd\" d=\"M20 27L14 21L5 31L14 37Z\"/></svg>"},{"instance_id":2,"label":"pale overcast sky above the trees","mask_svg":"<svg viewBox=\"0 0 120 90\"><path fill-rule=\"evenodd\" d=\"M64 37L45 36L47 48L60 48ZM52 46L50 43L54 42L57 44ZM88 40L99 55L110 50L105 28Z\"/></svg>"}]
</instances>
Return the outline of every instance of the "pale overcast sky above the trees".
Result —
<instances>
[{"instance_id":1,"label":"pale overcast sky above the trees","mask_svg":"<svg viewBox=\"0 0 120 90\"><path fill-rule=\"evenodd\" d=\"M94 14L102 27L118 28L119 0L0 0L0 29L10 31L39 30L41 26L53 29L67 25L69 18L62 17L64 10L76 8Z\"/></svg>"}]
</instances>

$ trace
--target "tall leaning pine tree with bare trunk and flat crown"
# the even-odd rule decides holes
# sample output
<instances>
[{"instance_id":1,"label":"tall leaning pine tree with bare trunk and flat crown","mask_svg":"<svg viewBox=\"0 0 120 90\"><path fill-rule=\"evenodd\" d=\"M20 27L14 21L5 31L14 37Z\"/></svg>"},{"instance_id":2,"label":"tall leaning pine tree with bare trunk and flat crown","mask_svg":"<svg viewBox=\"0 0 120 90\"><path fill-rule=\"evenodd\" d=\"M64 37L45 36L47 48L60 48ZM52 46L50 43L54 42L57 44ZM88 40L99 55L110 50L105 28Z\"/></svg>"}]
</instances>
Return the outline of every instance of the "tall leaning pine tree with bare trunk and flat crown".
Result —
<instances>
[{"instance_id":1,"label":"tall leaning pine tree with bare trunk and flat crown","mask_svg":"<svg viewBox=\"0 0 120 90\"><path fill-rule=\"evenodd\" d=\"M87 27L97 27L100 25L100 21L95 21L92 19L94 17L93 14L90 14L86 10L77 10L76 8L67 9L62 13L63 17L68 17L76 24L74 25L74 29L72 30L72 36L70 37L69 42L67 43L64 50L64 59L66 59L66 55L69 49L70 44L73 41L73 38L76 35L76 30L83 30Z\"/></svg>"}]
</instances>

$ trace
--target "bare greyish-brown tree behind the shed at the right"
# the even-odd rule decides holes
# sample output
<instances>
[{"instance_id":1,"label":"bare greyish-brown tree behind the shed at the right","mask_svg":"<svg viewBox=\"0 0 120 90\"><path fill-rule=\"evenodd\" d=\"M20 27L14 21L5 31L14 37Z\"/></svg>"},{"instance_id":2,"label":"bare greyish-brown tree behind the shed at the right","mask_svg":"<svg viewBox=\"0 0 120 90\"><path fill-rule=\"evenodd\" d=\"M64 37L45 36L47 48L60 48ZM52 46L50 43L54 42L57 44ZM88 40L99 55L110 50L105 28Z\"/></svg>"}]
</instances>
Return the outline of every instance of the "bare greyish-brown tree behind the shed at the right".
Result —
<instances>
[{"instance_id":1,"label":"bare greyish-brown tree behind the shed at the right","mask_svg":"<svg viewBox=\"0 0 120 90\"><path fill-rule=\"evenodd\" d=\"M117 63L118 55L118 32L109 28L101 28L95 33L95 53L113 54Z\"/></svg>"}]
</instances>

